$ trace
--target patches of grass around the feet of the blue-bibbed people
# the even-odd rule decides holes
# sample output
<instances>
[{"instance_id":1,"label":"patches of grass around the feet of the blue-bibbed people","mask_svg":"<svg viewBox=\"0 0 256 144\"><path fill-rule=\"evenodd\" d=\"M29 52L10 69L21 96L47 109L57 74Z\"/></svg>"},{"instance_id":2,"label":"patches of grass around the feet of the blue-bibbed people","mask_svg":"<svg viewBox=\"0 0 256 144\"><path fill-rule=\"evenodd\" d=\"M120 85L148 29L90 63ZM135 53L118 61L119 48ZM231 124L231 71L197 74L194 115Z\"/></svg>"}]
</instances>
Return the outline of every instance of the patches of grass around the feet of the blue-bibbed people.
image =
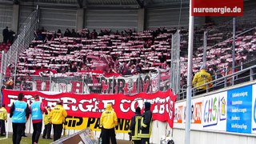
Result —
<instances>
[{"instance_id":1,"label":"patches of grass around the feet of the blue-bibbed people","mask_svg":"<svg viewBox=\"0 0 256 144\"><path fill-rule=\"evenodd\" d=\"M0 138L4 138L4 137L0 137ZM40 135L38 143L49 144L51 142L54 142L54 140L53 139L43 139L42 134ZM5 143L5 144L13 143L12 135L9 135L9 137L6 139L0 139L0 143ZM22 137L22 141L20 144L31 144L31 143L32 143L32 138L30 136L28 136L28 137Z\"/></svg>"}]
</instances>

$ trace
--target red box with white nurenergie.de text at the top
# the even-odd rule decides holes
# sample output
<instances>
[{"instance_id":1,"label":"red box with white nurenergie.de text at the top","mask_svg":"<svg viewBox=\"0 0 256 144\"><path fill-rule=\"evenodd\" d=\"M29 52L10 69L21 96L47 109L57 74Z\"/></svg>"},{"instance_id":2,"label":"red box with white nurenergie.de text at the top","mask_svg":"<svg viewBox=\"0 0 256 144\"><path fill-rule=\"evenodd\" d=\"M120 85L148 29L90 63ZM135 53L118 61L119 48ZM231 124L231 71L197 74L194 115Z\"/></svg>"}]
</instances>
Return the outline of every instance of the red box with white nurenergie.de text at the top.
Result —
<instances>
[{"instance_id":1,"label":"red box with white nurenergie.de text at the top","mask_svg":"<svg viewBox=\"0 0 256 144\"><path fill-rule=\"evenodd\" d=\"M243 0L192 0L192 16L242 16Z\"/></svg>"}]
</instances>

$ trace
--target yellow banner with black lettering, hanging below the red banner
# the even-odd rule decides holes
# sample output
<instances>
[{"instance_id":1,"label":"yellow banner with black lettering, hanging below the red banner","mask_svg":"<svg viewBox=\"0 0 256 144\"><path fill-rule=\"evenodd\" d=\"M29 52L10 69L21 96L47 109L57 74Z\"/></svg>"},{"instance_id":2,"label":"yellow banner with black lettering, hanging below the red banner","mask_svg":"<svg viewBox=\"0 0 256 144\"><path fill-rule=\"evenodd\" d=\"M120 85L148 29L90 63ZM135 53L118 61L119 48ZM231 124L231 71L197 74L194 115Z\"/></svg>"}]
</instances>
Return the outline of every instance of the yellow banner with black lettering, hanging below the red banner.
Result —
<instances>
[{"instance_id":1,"label":"yellow banner with black lettering, hanging below the red banner","mask_svg":"<svg viewBox=\"0 0 256 144\"><path fill-rule=\"evenodd\" d=\"M64 128L66 130L84 130L90 127L91 130L100 131L100 118L81 118L81 117L66 117ZM128 133L130 127L130 119L118 118L118 126L115 127L117 133Z\"/></svg>"}]
</instances>

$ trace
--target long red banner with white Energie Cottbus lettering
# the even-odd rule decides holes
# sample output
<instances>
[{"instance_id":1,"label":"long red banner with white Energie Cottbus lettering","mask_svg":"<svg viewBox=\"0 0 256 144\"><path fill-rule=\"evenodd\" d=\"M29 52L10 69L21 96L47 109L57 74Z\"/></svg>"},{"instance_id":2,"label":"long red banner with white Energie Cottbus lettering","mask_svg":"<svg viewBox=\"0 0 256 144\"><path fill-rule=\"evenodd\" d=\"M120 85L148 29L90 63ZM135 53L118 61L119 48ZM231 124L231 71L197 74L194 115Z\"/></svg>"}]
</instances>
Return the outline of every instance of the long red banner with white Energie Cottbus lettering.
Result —
<instances>
[{"instance_id":1,"label":"long red banner with white Energie Cottbus lettering","mask_svg":"<svg viewBox=\"0 0 256 144\"><path fill-rule=\"evenodd\" d=\"M154 94L139 93L133 96L125 94L70 94L39 91L3 90L3 102L6 110L10 111L11 104L18 98L18 94L25 95L24 101L31 104L33 96L38 94L45 106L54 107L61 100L69 116L82 118L100 118L107 103L112 103L118 118L130 119L136 107L143 107L144 102L151 103L153 120L168 122L173 125L174 102L176 95L171 90L158 91ZM143 108L142 108L143 111Z\"/></svg>"}]
</instances>

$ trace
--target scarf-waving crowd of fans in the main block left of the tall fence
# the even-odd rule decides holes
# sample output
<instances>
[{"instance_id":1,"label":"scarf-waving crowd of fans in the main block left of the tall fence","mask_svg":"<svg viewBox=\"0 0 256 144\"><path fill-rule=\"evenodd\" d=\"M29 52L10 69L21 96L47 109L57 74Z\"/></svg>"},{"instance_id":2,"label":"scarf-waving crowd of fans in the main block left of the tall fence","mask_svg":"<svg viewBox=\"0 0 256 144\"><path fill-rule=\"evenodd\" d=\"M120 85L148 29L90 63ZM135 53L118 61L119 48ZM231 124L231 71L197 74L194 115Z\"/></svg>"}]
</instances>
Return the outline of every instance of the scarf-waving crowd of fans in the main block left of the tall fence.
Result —
<instances>
[{"instance_id":1,"label":"scarf-waving crowd of fans in the main block left of the tall fence","mask_svg":"<svg viewBox=\"0 0 256 144\"><path fill-rule=\"evenodd\" d=\"M96 30L71 31L66 29L62 34L61 30L37 30L30 47L19 55L18 74L45 70L46 74L65 75L101 70L104 74L131 75L170 67L171 34L165 28L141 33L125 30L125 34L118 30L101 30L99 34Z\"/></svg>"}]
</instances>

